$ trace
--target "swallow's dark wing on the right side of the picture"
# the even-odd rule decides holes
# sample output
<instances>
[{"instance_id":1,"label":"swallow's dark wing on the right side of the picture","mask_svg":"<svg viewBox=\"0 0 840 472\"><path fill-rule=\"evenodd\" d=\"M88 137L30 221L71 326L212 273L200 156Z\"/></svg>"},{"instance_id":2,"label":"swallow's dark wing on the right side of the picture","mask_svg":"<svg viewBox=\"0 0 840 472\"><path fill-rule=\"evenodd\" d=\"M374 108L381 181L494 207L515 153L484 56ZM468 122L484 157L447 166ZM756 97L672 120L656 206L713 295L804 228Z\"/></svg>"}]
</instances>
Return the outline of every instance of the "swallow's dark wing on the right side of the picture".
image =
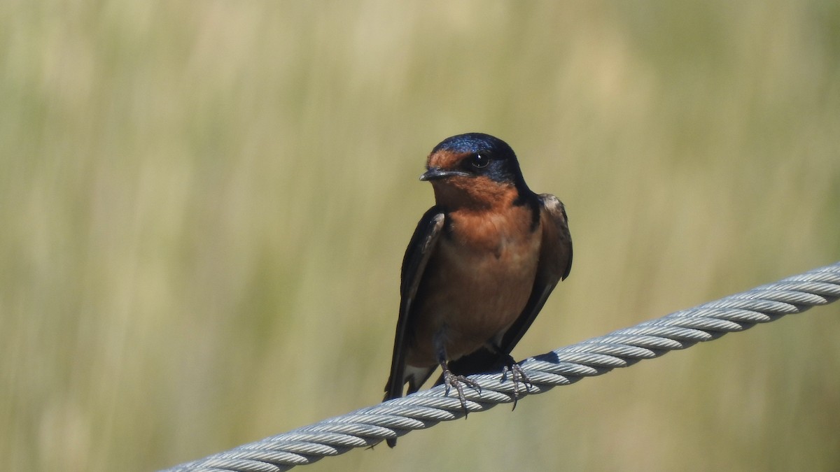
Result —
<instances>
[{"instance_id":1,"label":"swallow's dark wing on the right side of the picture","mask_svg":"<svg viewBox=\"0 0 840 472\"><path fill-rule=\"evenodd\" d=\"M569 275L572 267L572 239L563 202L554 195L543 193L538 196L538 209L543 239L539 249L537 276L534 278L528 303L516 321L501 336L496 349L479 349L450 362L449 369L453 373L479 374L500 370L505 366L514 346L531 327L554 286ZM437 383L441 381L438 379Z\"/></svg>"}]
</instances>

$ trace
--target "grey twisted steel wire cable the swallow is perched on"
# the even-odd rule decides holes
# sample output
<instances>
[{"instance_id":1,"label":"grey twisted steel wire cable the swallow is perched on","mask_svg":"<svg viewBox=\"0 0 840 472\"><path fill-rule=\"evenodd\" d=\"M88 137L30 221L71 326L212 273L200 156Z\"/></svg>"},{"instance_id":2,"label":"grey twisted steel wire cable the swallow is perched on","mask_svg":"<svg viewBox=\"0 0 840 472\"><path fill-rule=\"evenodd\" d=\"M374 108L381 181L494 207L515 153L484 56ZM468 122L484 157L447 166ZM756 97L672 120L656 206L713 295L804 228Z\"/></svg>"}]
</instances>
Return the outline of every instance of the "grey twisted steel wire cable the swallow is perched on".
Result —
<instances>
[{"instance_id":1,"label":"grey twisted steel wire cable the swallow is perched on","mask_svg":"<svg viewBox=\"0 0 840 472\"><path fill-rule=\"evenodd\" d=\"M523 396L606 374L617 367L801 313L837 298L840 262L525 359L521 366L531 385L520 384L517 394L522 400ZM514 401L509 377L501 372L470 375L480 385L480 391L465 389L469 412L483 412L499 403ZM447 396L444 385L438 385L177 465L166 472L278 472L464 415L454 391Z\"/></svg>"}]
</instances>

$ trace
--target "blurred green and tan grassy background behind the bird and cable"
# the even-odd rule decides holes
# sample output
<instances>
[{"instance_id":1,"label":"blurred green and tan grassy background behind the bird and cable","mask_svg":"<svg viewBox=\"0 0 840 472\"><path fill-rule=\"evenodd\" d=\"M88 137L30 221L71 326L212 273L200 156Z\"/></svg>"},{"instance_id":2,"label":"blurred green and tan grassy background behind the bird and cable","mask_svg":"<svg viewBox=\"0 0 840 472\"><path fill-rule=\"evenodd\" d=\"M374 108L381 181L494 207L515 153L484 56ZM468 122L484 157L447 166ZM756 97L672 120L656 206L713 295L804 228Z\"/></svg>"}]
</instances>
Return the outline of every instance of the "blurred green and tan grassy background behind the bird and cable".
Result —
<instances>
[{"instance_id":1,"label":"blurred green and tan grassy background behind the bird and cable","mask_svg":"<svg viewBox=\"0 0 840 472\"><path fill-rule=\"evenodd\" d=\"M566 204L523 358L840 260L840 3L0 3L0 469L381 399L452 134ZM312 470L837 470L840 306Z\"/></svg>"}]
</instances>

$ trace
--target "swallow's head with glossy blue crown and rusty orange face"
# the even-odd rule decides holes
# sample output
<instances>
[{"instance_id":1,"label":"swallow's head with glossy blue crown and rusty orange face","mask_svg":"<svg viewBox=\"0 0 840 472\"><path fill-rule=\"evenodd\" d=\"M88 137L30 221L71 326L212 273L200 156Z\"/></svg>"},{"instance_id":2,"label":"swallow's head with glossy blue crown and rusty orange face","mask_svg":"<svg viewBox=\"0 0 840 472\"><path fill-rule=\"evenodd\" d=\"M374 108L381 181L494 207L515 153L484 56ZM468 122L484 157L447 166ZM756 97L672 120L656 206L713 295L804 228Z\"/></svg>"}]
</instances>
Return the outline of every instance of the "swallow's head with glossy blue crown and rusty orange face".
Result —
<instances>
[{"instance_id":1,"label":"swallow's head with glossy blue crown and rusty orange face","mask_svg":"<svg viewBox=\"0 0 840 472\"><path fill-rule=\"evenodd\" d=\"M420 180L432 183L444 207L493 207L530 193L513 149L490 134L444 139L428 155L426 169Z\"/></svg>"}]
</instances>

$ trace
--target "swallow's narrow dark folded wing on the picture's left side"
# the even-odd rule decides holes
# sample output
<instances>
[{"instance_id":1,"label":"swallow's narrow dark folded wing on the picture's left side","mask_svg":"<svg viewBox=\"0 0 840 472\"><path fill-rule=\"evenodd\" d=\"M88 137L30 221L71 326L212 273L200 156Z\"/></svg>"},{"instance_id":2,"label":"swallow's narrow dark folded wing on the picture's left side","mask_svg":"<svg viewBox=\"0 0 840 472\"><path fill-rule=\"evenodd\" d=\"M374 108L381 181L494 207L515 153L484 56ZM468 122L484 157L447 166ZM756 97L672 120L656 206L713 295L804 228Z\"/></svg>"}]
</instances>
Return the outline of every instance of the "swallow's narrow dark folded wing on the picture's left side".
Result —
<instances>
[{"instance_id":1,"label":"swallow's narrow dark folded wing on the picture's left side","mask_svg":"<svg viewBox=\"0 0 840 472\"><path fill-rule=\"evenodd\" d=\"M423 280L429 257L438 243L438 237L444 228L444 212L438 207L431 207L417 223L406 254L402 259L402 279L400 282L400 317L396 321L394 354L391 356L391 376L385 385L385 399L402 396L403 378L406 371L407 339L412 335L412 302L417 295L417 287ZM426 377L431 375L429 370ZM417 385L419 386L419 385Z\"/></svg>"}]
</instances>

